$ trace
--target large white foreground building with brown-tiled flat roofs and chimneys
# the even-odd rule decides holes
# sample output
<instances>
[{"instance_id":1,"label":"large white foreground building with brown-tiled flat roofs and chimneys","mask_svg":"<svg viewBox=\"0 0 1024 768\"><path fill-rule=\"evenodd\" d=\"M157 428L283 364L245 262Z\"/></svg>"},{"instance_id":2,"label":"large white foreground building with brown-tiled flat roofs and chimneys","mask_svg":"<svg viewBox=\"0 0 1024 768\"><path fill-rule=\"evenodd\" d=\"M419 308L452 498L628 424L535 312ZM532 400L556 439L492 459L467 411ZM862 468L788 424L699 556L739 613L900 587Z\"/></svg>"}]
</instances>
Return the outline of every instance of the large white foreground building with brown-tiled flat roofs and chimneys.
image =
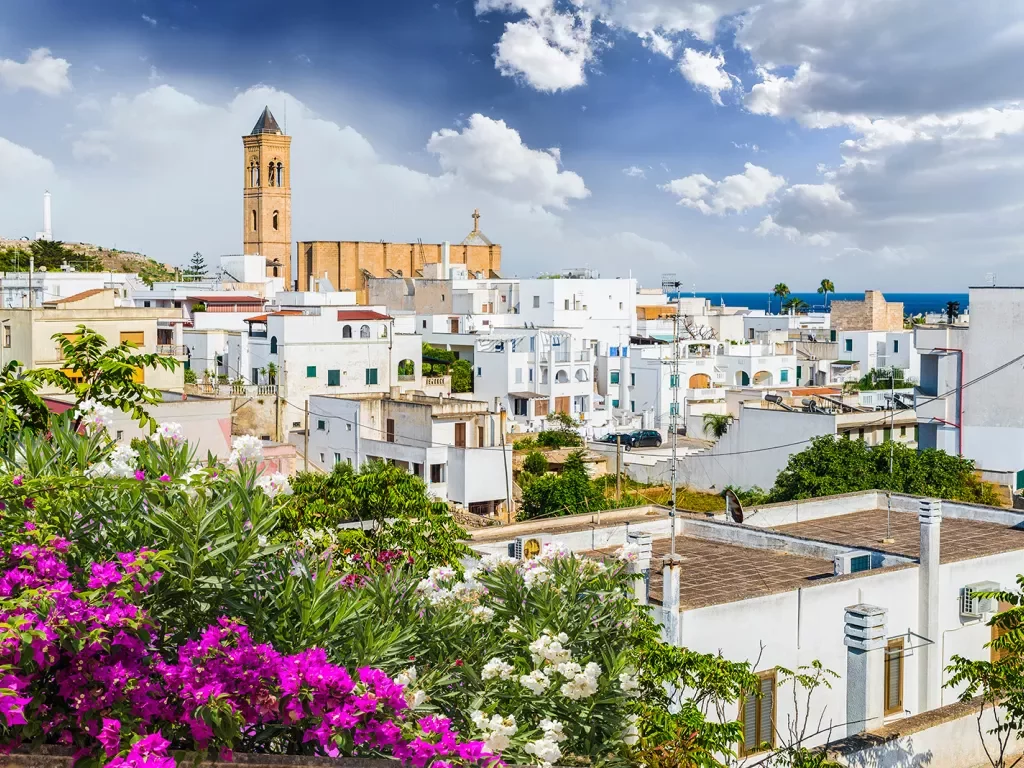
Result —
<instances>
[{"instance_id":1,"label":"large white foreground building with brown-tiled flat roofs and chimneys","mask_svg":"<svg viewBox=\"0 0 1024 768\"><path fill-rule=\"evenodd\" d=\"M583 516L481 530L474 549L507 553L514 537L540 535L610 556L628 535L650 535L649 595L638 591L665 639L749 662L762 680L761 697L723 713L744 725L740 765L763 760L759 743L776 744L798 716L815 724L804 745L816 746L955 702L961 690L945 685L952 656L991 653L986 623L997 606L971 593L1013 589L1024 555L1017 512L874 490L746 509L741 524L684 515L676 560L668 519L652 513L585 530ZM807 703L779 669L814 662L839 677ZM904 757L878 765L931 764Z\"/></svg>"}]
</instances>

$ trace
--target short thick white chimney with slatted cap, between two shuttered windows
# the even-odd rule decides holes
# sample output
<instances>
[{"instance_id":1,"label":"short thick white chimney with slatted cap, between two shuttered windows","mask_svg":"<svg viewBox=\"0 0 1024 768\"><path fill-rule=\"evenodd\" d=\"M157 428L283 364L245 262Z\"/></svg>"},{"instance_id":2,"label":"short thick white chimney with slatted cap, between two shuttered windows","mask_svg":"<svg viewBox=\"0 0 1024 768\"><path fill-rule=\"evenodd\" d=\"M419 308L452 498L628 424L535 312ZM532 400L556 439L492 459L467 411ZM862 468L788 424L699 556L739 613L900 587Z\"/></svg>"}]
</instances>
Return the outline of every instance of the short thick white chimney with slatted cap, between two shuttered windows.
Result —
<instances>
[{"instance_id":1,"label":"short thick white chimney with slatted cap, between two shuttered windows","mask_svg":"<svg viewBox=\"0 0 1024 768\"><path fill-rule=\"evenodd\" d=\"M886 609L846 609L846 734L882 727L886 712Z\"/></svg>"}]
</instances>

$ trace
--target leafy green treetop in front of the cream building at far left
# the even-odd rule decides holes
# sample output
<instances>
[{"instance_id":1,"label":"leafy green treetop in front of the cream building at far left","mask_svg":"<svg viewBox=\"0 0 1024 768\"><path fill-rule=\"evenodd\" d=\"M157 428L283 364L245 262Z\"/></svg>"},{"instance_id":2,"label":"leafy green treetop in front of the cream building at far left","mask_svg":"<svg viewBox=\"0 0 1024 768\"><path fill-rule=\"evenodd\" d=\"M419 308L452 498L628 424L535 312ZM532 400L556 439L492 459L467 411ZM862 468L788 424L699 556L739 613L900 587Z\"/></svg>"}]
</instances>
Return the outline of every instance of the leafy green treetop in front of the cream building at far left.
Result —
<instances>
[{"instance_id":1,"label":"leafy green treetop in front of the cream building at far left","mask_svg":"<svg viewBox=\"0 0 1024 768\"><path fill-rule=\"evenodd\" d=\"M131 414L142 426L157 426L144 407L160 402L163 395L159 389L143 384L139 374L151 368L173 371L179 365L177 359L138 354L130 342L110 347L106 339L85 326L78 326L74 334L54 334L51 338L60 347L62 368L37 369L35 375L41 381L75 395L76 403L94 400Z\"/></svg>"}]
</instances>

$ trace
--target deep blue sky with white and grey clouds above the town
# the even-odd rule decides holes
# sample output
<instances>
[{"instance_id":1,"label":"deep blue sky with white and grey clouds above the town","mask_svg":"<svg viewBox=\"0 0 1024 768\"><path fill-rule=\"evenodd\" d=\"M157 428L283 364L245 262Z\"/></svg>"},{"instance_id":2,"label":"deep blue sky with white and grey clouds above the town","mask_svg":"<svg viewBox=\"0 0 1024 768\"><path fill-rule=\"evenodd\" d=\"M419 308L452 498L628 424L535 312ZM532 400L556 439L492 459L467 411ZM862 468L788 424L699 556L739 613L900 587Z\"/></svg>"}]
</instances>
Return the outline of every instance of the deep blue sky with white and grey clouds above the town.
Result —
<instances>
[{"instance_id":1,"label":"deep blue sky with white and grey clouds above the town","mask_svg":"<svg viewBox=\"0 0 1024 768\"><path fill-rule=\"evenodd\" d=\"M280 24L271 24L280 18ZM293 238L709 291L1024 281L1024 9L925 0L6 0L0 236L238 251L288 112Z\"/></svg>"}]
</instances>

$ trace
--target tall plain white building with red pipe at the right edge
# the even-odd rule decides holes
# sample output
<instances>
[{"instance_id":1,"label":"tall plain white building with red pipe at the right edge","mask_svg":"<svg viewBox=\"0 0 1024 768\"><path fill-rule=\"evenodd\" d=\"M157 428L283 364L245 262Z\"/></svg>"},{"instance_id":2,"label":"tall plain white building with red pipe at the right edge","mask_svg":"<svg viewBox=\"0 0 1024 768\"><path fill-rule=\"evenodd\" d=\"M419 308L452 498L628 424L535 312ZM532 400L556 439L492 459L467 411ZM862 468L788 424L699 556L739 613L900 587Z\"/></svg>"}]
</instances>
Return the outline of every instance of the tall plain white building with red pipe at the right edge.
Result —
<instances>
[{"instance_id":1,"label":"tall plain white building with red pipe at the right edge","mask_svg":"<svg viewBox=\"0 0 1024 768\"><path fill-rule=\"evenodd\" d=\"M970 295L970 326L914 330L921 353L921 444L971 459L992 473L990 479L1020 488L1024 288L972 288Z\"/></svg>"}]
</instances>

